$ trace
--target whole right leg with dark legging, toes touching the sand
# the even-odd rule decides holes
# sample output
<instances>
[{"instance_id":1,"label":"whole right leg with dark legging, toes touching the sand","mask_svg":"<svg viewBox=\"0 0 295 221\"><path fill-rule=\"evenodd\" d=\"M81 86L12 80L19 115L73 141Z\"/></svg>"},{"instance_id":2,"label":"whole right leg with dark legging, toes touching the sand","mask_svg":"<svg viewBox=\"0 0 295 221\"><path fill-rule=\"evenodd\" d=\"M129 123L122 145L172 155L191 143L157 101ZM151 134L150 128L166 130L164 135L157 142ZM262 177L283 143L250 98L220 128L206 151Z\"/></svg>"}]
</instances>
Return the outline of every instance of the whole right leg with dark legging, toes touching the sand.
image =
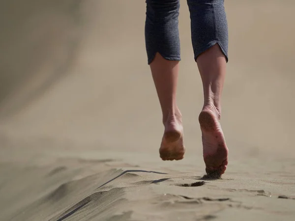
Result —
<instances>
[{"instance_id":1,"label":"whole right leg with dark legging, toes touching the sand","mask_svg":"<svg viewBox=\"0 0 295 221\"><path fill-rule=\"evenodd\" d=\"M228 27L224 0L187 0L192 45L203 82L204 106L199 115L203 157L208 174L221 175L228 148L219 123L221 93L228 61Z\"/></svg>"}]
</instances>

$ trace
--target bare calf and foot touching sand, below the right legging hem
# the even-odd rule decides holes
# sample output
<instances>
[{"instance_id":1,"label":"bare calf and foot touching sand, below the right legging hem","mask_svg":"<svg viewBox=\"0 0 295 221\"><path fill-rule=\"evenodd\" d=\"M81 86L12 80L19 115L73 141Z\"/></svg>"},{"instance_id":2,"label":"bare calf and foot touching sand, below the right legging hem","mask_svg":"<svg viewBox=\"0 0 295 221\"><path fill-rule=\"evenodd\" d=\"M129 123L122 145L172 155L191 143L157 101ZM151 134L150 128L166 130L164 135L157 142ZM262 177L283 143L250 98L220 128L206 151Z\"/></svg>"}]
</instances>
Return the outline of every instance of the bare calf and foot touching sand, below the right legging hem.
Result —
<instances>
[{"instance_id":1,"label":"bare calf and foot touching sand, below the right legging hem","mask_svg":"<svg viewBox=\"0 0 295 221\"><path fill-rule=\"evenodd\" d=\"M203 156L208 174L223 174L228 164L228 148L219 123L221 92L226 74L226 58L215 44L197 58L204 89L204 107L199 115Z\"/></svg>"}]
</instances>

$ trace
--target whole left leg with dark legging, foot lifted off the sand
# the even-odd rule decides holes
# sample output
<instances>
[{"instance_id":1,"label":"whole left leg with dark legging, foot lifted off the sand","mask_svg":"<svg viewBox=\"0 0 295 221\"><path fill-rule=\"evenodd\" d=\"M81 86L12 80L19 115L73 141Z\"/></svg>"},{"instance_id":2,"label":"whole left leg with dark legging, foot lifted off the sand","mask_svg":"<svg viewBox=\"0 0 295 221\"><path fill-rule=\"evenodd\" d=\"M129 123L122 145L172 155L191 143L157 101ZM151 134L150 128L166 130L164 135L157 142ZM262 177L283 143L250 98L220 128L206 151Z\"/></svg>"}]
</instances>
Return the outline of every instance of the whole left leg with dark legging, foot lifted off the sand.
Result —
<instances>
[{"instance_id":1,"label":"whole left leg with dark legging, foot lifted off the sand","mask_svg":"<svg viewBox=\"0 0 295 221\"><path fill-rule=\"evenodd\" d=\"M179 0L146 0L146 47L148 64L160 101L164 135L160 145L163 160L181 160L184 155L181 113L176 90L180 60L178 35Z\"/></svg>"}]
</instances>

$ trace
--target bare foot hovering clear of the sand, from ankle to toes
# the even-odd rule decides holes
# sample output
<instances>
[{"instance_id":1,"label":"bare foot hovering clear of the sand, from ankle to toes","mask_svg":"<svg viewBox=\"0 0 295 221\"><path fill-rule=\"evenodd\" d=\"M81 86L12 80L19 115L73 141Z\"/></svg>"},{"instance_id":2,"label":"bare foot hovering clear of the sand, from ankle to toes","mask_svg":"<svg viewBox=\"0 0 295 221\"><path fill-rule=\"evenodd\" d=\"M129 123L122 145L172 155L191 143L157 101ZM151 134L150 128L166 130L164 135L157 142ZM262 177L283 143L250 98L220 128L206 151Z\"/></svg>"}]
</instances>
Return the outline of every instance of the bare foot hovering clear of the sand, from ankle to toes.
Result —
<instances>
[{"instance_id":1,"label":"bare foot hovering clear of the sand, from ankle to toes","mask_svg":"<svg viewBox=\"0 0 295 221\"><path fill-rule=\"evenodd\" d=\"M174 117L175 118L175 117ZM163 161L183 159L183 128L181 119L170 119L164 124L165 131L160 146L160 157Z\"/></svg>"}]
</instances>

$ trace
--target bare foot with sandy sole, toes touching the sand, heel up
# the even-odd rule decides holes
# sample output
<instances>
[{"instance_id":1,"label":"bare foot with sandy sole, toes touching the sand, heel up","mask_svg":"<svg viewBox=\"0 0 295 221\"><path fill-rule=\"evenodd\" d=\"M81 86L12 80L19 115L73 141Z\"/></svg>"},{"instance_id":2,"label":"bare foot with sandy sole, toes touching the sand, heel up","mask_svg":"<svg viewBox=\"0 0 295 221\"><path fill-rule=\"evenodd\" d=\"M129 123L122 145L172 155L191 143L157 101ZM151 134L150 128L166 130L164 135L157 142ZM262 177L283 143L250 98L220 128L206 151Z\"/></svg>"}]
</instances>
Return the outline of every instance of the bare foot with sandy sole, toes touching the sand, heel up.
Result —
<instances>
[{"instance_id":1,"label":"bare foot with sandy sole, toes touching the sand, heel up","mask_svg":"<svg viewBox=\"0 0 295 221\"><path fill-rule=\"evenodd\" d=\"M228 148L215 108L205 107L199 115L203 157L207 174L223 174L228 165Z\"/></svg>"}]
</instances>

